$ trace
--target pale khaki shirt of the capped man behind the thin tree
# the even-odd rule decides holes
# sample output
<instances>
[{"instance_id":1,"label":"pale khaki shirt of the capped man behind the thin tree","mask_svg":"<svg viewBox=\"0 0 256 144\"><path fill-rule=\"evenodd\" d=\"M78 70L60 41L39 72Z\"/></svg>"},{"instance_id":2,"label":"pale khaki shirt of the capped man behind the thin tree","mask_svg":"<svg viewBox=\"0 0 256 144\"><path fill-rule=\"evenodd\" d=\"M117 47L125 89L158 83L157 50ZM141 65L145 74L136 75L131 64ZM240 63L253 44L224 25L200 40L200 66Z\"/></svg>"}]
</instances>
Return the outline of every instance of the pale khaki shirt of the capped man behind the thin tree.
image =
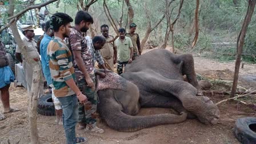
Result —
<instances>
[{"instance_id":1,"label":"pale khaki shirt of the capped man behind the thin tree","mask_svg":"<svg viewBox=\"0 0 256 144\"><path fill-rule=\"evenodd\" d=\"M37 43L35 43L35 40L34 39L30 40L27 37L25 37L25 38L22 39L22 41L24 42L24 44L27 48L26 52L30 56L30 58L38 58L39 59L40 57L39 57L39 53L38 53L38 50L37 50ZM15 52L16 53L21 53L21 49L19 49L19 47L17 46Z\"/></svg>"}]
</instances>

